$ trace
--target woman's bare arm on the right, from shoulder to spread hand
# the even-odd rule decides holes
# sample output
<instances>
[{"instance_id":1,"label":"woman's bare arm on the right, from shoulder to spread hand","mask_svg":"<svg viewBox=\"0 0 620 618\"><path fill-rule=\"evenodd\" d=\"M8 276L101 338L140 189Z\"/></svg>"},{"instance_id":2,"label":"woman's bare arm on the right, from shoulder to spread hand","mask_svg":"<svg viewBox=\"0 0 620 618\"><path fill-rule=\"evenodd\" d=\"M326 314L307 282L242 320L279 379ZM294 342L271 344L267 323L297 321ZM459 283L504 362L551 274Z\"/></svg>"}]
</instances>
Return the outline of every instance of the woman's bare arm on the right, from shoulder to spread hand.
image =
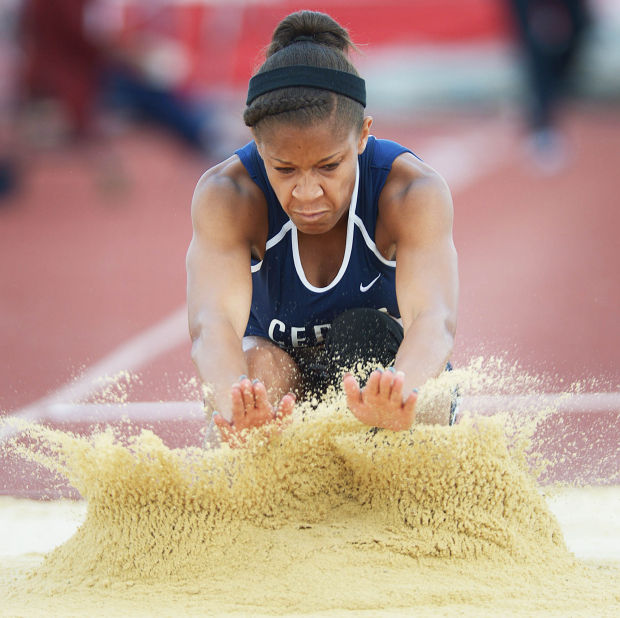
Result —
<instances>
[{"instance_id":1,"label":"woman's bare arm on the right, from shoulder to spread hand","mask_svg":"<svg viewBox=\"0 0 620 618\"><path fill-rule=\"evenodd\" d=\"M405 334L392 371L373 372L363 389L345 376L347 402L362 422L386 429L408 429L416 420L447 424L448 405L416 418L413 389L444 370L454 341L458 272L450 192L432 169L405 155L394 162L379 208L376 238L387 254L396 253Z\"/></svg>"}]
</instances>

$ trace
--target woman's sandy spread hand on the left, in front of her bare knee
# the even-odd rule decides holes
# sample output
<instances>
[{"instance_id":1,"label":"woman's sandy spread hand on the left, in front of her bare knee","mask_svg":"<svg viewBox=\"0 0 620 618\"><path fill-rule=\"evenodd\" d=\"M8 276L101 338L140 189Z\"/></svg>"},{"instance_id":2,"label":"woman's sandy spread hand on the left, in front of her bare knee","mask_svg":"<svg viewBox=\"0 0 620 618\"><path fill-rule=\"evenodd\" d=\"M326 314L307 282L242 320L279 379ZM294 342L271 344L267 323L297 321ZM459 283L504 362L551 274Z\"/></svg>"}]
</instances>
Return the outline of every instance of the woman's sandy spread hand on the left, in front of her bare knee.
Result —
<instances>
[{"instance_id":1,"label":"woman's sandy spread hand on the left, in front of her bare knee","mask_svg":"<svg viewBox=\"0 0 620 618\"><path fill-rule=\"evenodd\" d=\"M296 399L293 393L287 393L275 409L265 385L245 376L232 385L231 398L232 422L217 412L213 413L213 422L220 430L222 441L233 448L243 446L252 429L265 427L268 434L282 431L291 422Z\"/></svg>"}]
</instances>

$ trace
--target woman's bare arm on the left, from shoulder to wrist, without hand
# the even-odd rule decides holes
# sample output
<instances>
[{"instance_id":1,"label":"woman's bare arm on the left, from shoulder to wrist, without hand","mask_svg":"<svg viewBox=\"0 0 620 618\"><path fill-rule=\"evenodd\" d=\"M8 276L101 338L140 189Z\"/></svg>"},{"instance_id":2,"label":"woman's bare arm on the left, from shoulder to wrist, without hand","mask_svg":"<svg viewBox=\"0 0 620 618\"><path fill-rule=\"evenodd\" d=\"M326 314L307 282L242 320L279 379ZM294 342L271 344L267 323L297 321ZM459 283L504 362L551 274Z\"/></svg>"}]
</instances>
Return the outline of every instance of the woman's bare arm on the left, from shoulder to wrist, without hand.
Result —
<instances>
[{"instance_id":1,"label":"woman's bare arm on the left, from shoulder to wrist, without hand","mask_svg":"<svg viewBox=\"0 0 620 618\"><path fill-rule=\"evenodd\" d=\"M208 405L230 421L231 385L247 374L241 342L252 298L252 239L249 197L226 165L198 183L186 262L192 359L210 391Z\"/></svg>"}]
</instances>

